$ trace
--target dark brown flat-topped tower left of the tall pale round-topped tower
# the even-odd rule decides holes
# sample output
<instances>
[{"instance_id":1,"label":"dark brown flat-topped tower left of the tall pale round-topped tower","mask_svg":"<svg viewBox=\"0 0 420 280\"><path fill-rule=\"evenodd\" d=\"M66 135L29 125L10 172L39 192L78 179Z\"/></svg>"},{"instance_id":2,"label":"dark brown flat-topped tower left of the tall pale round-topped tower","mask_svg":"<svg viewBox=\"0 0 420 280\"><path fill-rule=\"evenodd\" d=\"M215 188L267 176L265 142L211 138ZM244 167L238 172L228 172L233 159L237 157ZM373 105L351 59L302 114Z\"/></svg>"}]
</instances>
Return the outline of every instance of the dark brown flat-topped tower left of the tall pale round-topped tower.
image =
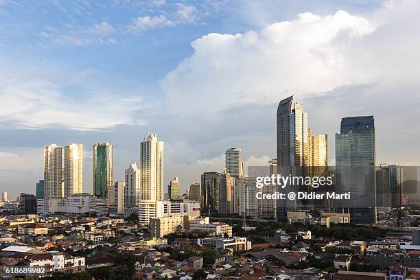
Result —
<instances>
[{"instance_id":1,"label":"dark brown flat-topped tower left of the tall pale round-topped tower","mask_svg":"<svg viewBox=\"0 0 420 280\"><path fill-rule=\"evenodd\" d=\"M201 175L201 207L203 211L219 210L220 173L205 172Z\"/></svg>"}]
</instances>

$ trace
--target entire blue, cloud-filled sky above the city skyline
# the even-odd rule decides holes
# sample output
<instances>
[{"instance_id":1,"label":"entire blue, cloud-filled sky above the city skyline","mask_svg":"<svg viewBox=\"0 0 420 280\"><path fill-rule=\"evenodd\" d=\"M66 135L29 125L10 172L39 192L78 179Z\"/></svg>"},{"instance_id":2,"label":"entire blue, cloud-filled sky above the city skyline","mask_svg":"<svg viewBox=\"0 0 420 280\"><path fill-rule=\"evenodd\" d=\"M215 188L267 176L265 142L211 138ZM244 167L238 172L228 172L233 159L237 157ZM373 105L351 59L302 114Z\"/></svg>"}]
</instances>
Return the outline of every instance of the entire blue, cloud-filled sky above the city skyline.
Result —
<instances>
[{"instance_id":1,"label":"entire blue, cloud-filled sky above the city skyline","mask_svg":"<svg viewBox=\"0 0 420 280\"><path fill-rule=\"evenodd\" d=\"M290 95L329 137L374 115L377 163L420 165L420 1L0 0L0 191L34 194L43 146L114 143L115 180L149 132L181 190L276 154ZM166 189L165 189L166 191Z\"/></svg>"}]
</instances>

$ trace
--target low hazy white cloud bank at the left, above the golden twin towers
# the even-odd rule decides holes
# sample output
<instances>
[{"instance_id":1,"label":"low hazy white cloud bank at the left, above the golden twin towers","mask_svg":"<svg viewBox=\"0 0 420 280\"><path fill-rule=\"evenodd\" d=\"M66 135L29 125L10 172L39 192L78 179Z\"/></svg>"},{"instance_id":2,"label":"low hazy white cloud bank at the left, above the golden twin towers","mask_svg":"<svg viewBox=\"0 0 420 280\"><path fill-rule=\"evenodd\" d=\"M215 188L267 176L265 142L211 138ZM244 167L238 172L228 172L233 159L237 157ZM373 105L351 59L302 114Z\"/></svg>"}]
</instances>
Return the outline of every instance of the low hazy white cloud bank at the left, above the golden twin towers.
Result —
<instances>
[{"instance_id":1,"label":"low hazy white cloud bank at the left, above the golden twin towers","mask_svg":"<svg viewBox=\"0 0 420 280\"><path fill-rule=\"evenodd\" d=\"M115 95L105 89L97 89L87 96L62 93L67 86L83 83L89 74L87 77L69 74L74 80L63 74L51 82L37 75L34 69L20 71L16 73L10 68L5 74L7 71L0 68L0 119L12 122L16 128L100 130L123 124L145 124L135 117L143 105L139 96Z\"/></svg>"}]
</instances>

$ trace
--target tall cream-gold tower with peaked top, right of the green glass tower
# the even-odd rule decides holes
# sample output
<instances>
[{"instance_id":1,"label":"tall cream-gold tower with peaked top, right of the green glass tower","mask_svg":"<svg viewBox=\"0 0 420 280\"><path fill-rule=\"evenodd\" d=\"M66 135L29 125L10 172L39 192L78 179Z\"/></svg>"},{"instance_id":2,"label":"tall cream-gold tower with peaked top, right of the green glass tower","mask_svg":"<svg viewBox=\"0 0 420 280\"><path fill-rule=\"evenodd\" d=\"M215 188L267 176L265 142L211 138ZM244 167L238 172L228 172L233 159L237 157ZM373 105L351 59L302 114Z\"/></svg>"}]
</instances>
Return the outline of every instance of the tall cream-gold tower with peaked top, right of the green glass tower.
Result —
<instances>
[{"instance_id":1,"label":"tall cream-gold tower with peaked top, right of the green glass tower","mask_svg":"<svg viewBox=\"0 0 420 280\"><path fill-rule=\"evenodd\" d=\"M141 198L163 200L163 141L150 133L140 144Z\"/></svg>"}]
</instances>

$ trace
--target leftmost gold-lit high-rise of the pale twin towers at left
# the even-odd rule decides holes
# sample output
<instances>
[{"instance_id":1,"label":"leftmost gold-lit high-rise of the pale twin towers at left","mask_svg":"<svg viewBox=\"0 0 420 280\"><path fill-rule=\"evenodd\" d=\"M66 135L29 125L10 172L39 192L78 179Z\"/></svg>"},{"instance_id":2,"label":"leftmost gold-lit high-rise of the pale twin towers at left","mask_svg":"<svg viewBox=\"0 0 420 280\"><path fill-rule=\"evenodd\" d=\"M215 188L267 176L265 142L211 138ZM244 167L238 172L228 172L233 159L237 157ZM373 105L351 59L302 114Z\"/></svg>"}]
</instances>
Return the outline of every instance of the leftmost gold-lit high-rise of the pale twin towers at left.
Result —
<instances>
[{"instance_id":1,"label":"leftmost gold-lit high-rise of the pale twin towers at left","mask_svg":"<svg viewBox=\"0 0 420 280\"><path fill-rule=\"evenodd\" d=\"M44 147L44 197L61 198L63 195L62 148L47 145Z\"/></svg>"}]
</instances>

